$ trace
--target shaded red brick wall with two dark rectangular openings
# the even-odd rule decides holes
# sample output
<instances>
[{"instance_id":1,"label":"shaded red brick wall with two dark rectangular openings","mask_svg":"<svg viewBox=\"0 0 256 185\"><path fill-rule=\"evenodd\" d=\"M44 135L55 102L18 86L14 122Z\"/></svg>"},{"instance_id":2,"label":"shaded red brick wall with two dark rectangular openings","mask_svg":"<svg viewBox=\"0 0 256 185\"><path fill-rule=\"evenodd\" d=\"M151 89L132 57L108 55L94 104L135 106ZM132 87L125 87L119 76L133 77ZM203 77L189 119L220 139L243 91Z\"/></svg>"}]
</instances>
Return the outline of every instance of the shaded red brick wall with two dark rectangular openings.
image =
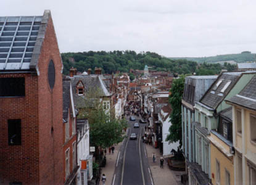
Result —
<instances>
[{"instance_id":1,"label":"shaded red brick wall with two dark rectangular openings","mask_svg":"<svg viewBox=\"0 0 256 185\"><path fill-rule=\"evenodd\" d=\"M0 74L0 78L12 77L25 78L25 97L0 97L0 184L38 184L38 77ZM21 119L20 146L8 145L8 119Z\"/></svg>"}]
</instances>

